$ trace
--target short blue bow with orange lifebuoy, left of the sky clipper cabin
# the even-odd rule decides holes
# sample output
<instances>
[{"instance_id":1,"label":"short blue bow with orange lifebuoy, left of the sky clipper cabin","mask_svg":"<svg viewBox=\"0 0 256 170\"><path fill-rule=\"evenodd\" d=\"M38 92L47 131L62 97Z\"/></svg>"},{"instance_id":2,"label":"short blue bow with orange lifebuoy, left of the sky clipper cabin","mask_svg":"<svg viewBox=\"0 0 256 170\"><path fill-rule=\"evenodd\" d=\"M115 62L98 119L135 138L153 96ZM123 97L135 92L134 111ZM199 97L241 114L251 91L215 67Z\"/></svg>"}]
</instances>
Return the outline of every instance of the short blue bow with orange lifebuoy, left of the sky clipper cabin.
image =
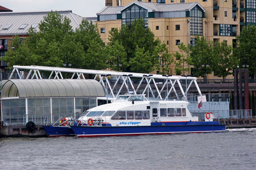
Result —
<instances>
[{"instance_id":1,"label":"short blue bow with orange lifebuoy, left of the sky clipper cabin","mask_svg":"<svg viewBox=\"0 0 256 170\"><path fill-rule=\"evenodd\" d=\"M74 137L70 125L77 122L74 117L60 117L53 125L43 125L48 137Z\"/></svg>"}]
</instances>

